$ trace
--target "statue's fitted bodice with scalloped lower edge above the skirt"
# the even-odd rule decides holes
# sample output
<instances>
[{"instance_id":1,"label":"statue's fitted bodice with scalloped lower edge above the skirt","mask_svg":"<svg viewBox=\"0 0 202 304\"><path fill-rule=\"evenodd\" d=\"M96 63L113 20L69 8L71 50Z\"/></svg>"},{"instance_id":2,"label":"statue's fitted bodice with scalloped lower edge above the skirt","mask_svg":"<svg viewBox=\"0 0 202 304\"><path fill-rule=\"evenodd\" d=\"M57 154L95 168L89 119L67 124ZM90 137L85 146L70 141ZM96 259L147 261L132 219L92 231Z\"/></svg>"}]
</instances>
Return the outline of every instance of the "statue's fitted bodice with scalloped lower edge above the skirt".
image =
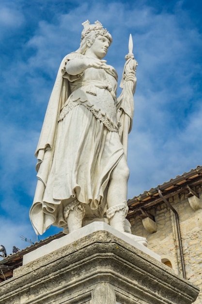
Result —
<instances>
[{"instance_id":1,"label":"statue's fitted bodice with scalloped lower edge above the skirt","mask_svg":"<svg viewBox=\"0 0 202 304\"><path fill-rule=\"evenodd\" d=\"M75 58L83 58L84 55L71 53L67 57L67 61ZM87 68L82 74L77 76L64 76L69 80L70 92L68 100L65 102L59 121L78 104L82 104L88 108L93 115L100 119L104 125L112 132L118 132L116 118L116 87L117 74L116 71L108 66L109 70Z\"/></svg>"}]
</instances>

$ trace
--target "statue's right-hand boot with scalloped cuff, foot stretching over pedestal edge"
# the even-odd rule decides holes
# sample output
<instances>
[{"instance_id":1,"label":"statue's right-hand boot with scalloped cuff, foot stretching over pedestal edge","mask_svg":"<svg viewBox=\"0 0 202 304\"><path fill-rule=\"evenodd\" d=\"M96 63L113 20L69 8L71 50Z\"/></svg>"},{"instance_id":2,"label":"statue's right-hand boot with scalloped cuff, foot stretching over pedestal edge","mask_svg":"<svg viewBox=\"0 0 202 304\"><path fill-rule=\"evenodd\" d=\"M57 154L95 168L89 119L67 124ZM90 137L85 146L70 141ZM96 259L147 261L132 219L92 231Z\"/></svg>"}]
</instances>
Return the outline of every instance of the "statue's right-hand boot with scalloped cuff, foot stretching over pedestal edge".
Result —
<instances>
[{"instance_id":1,"label":"statue's right-hand boot with scalloped cuff, foot stretching over pedestal edge","mask_svg":"<svg viewBox=\"0 0 202 304\"><path fill-rule=\"evenodd\" d=\"M110 226L124 233L126 236L131 237L136 242L147 247L148 242L146 237L136 236L124 231L125 217L127 215L127 212L127 202L109 207L109 209L107 210L107 218L109 220Z\"/></svg>"}]
</instances>

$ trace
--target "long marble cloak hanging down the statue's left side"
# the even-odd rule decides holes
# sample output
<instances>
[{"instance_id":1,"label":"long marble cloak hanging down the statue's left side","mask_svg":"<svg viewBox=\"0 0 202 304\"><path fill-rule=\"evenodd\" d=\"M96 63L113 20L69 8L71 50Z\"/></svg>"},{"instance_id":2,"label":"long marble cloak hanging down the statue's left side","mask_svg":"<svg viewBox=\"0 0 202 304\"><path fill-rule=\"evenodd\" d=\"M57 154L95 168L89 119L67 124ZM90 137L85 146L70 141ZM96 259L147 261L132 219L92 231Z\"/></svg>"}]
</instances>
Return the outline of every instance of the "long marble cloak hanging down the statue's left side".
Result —
<instances>
[{"instance_id":1,"label":"long marble cloak hanging down the statue's left side","mask_svg":"<svg viewBox=\"0 0 202 304\"><path fill-rule=\"evenodd\" d=\"M36 234L43 234L47 227L52 223L52 217L42 211L42 205L44 190L54 154L58 116L70 93L68 81L62 77L66 57L67 56L63 58L58 70L56 81L48 102L39 142L34 154L37 158L36 170L38 181L30 210L30 219Z\"/></svg>"}]
</instances>

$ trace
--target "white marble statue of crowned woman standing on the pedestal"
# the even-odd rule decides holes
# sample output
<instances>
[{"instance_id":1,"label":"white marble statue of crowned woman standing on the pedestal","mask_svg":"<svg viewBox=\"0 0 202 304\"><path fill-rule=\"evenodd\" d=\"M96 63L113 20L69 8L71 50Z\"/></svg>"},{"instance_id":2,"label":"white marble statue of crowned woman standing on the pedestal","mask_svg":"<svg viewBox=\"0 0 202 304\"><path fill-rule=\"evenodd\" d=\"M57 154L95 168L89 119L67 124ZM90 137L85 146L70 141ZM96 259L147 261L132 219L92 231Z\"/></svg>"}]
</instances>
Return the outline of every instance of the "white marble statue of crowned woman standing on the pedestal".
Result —
<instances>
[{"instance_id":1,"label":"white marble statue of crowned woman standing on the pedestal","mask_svg":"<svg viewBox=\"0 0 202 304\"><path fill-rule=\"evenodd\" d=\"M35 153L30 218L37 234L51 224L72 232L96 219L125 233L129 169L119 120L127 114L116 98L117 73L102 59L112 38L99 21L83 26L80 48L62 60ZM135 68L128 81L133 95ZM128 133L131 118L127 124Z\"/></svg>"}]
</instances>

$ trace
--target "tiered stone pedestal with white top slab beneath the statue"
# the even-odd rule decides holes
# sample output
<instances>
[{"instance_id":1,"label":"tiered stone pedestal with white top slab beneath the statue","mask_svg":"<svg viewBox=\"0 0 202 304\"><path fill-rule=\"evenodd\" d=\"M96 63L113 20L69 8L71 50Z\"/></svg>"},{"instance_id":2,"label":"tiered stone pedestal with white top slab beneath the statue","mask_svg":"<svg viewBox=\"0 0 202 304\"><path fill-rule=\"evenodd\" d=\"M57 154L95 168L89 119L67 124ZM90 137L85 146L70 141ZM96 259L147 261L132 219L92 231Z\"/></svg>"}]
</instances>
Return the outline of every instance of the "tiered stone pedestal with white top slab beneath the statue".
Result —
<instances>
[{"instance_id":1,"label":"tiered stone pedestal with white top slab beneath the statue","mask_svg":"<svg viewBox=\"0 0 202 304\"><path fill-rule=\"evenodd\" d=\"M94 222L25 255L14 277L0 284L0 304L193 303L199 289L158 259Z\"/></svg>"}]
</instances>

